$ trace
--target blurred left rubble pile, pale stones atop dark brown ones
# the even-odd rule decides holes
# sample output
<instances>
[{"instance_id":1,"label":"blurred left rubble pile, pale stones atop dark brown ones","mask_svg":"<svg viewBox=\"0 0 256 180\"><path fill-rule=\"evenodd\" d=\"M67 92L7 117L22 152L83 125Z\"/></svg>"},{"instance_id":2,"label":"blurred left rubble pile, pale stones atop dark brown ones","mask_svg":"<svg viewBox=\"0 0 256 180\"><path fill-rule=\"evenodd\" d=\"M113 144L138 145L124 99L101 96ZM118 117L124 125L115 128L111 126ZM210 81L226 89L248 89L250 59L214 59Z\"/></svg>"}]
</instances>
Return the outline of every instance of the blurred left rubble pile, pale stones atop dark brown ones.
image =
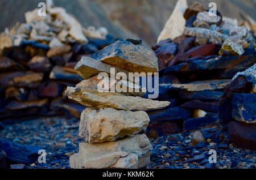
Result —
<instances>
[{"instance_id":1,"label":"blurred left rubble pile, pale stones atop dark brown ones","mask_svg":"<svg viewBox=\"0 0 256 180\"><path fill-rule=\"evenodd\" d=\"M51 1L47 1L49 4ZM80 117L82 105L63 97L67 85L82 78L75 65L115 40L106 28L83 28L64 8L26 12L26 23L0 35L0 119L68 113Z\"/></svg>"}]
</instances>

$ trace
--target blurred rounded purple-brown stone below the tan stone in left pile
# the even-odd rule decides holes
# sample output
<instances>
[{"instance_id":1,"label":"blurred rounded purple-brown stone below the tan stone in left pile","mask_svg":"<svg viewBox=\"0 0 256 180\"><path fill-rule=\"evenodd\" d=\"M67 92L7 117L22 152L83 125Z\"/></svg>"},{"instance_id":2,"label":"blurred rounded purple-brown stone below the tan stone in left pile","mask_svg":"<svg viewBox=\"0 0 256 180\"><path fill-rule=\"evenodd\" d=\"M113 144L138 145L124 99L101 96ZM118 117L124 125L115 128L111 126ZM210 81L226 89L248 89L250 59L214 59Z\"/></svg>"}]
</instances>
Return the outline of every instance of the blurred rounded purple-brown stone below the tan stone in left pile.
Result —
<instances>
[{"instance_id":1,"label":"blurred rounded purple-brown stone below the tan stone in left pile","mask_svg":"<svg viewBox=\"0 0 256 180\"><path fill-rule=\"evenodd\" d=\"M49 72L51 70L51 63L47 57L35 56L29 62L28 66L32 71Z\"/></svg>"}]
</instances>

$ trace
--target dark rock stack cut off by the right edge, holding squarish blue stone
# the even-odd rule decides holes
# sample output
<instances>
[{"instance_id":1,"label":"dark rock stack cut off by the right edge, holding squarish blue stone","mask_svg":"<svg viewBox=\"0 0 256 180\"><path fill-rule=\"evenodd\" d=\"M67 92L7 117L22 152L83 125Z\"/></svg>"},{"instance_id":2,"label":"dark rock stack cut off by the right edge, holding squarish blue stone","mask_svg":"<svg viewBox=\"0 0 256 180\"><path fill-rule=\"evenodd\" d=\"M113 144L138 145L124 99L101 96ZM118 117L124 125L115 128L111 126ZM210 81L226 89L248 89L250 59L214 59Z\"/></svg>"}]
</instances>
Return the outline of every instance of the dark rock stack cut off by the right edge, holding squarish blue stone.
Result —
<instances>
[{"instance_id":1,"label":"dark rock stack cut off by the right edge, holding squarish blue stone","mask_svg":"<svg viewBox=\"0 0 256 180\"><path fill-rule=\"evenodd\" d=\"M253 150L256 150L255 93L256 64L234 76L218 106L221 121L229 122L229 135L234 144Z\"/></svg>"}]
</instances>

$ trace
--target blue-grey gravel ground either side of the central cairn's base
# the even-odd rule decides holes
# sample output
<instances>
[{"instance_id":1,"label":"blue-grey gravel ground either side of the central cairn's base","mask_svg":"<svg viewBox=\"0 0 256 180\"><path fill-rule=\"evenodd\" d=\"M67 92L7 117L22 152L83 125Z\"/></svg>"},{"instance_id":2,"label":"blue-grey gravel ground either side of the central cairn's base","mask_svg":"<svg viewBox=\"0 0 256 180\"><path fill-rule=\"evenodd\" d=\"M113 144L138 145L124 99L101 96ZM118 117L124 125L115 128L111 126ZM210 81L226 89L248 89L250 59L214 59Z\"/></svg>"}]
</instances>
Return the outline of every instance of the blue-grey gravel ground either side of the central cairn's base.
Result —
<instances>
[{"instance_id":1,"label":"blue-grey gravel ground either side of the central cairn's base","mask_svg":"<svg viewBox=\"0 0 256 180\"><path fill-rule=\"evenodd\" d=\"M5 123L5 122L3 122ZM47 163L27 165L25 168L67 169L69 156L78 152L79 120L62 117L40 118L5 125L1 138L15 143L37 145L47 152ZM201 130L206 144L191 146L193 132L151 139L151 164L146 168L204 169L204 168L256 168L256 151L238 149L230 142L228 132L217 126ZM210 149L217 152L217 163L210 164Z\"/></svg>"}]
</instances>

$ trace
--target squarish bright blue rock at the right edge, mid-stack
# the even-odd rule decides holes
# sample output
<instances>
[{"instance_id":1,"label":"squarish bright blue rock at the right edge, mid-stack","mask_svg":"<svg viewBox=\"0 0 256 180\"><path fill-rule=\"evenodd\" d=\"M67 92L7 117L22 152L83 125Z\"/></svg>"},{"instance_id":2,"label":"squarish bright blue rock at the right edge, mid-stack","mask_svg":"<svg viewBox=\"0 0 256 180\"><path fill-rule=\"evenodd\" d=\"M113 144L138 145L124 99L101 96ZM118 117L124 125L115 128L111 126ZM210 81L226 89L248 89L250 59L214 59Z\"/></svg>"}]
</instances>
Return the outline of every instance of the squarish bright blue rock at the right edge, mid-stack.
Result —
<instances>
[{"instance_id":1,"label":"squarish bright blue rock at the right edge, mid-stack","mask_svg":"<svg viewBox=\"0 0 256 180\"><path fill-rule=\"evenodd\" d=\"M236 121L256 124L256 95L234 94L232 98L232 117Z\"/></svg>"}]
</instances>

